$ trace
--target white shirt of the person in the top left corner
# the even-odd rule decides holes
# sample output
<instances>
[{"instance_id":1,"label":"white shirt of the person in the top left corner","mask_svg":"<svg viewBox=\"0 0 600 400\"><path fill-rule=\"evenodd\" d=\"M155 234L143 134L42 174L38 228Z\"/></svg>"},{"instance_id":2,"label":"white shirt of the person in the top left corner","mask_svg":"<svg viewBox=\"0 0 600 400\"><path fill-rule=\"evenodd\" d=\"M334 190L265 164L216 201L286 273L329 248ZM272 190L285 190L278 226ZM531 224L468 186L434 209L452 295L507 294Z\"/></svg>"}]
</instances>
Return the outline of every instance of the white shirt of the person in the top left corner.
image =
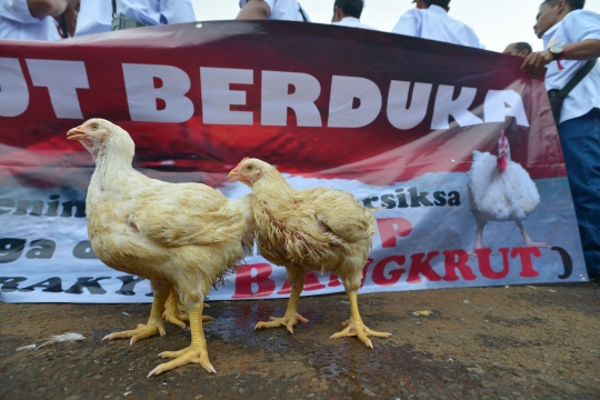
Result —
<instances>
[{"instance_id":1,"label":"white shirt of the person in the top left corner","mask_svg":"<svg viewBox=\"0 0 600 400\"><path fill-rule=\"evenodd\" d=\"M0 39L60 40L52 17L31 16L27 0L0 0Z\"/></svg>"}]
</instances>

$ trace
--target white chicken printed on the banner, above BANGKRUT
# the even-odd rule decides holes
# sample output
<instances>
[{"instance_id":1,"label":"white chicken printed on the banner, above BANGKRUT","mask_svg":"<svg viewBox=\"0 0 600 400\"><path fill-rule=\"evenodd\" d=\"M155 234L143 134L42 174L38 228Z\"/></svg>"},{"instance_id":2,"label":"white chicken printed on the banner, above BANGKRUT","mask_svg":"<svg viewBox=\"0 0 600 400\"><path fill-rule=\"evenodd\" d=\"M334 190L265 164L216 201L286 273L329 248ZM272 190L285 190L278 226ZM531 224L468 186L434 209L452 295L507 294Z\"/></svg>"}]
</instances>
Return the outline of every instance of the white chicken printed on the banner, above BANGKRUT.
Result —
<instances>
[{"instance_id":1,"label":"white chicken printed on the banner, above BANGKRUT","mask_svg":"<svg viewBox=\"0 0 600 400\"><path fill-rule=\"evenodd\" d=\"M540 194L529 173L510 159L510 144L502 130L498 157L473 151L469 171L469 199L477 220L474 250L483 248L483 227L488 221L514 221L527 247L548 247L531 240L521 220L540 202ZM474 252L471 253L474 257Z\"/></svg>"}]
</instances>

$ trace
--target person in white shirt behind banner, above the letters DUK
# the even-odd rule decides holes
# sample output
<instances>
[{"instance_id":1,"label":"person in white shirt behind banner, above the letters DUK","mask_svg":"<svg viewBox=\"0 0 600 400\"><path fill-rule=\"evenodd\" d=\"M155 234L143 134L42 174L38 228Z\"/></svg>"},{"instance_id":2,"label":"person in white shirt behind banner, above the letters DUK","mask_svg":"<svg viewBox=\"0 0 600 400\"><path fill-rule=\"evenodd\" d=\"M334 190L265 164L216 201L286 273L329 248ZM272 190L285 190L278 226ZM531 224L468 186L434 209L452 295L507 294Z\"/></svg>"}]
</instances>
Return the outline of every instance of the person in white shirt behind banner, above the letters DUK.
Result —
<instances>
[{"instance_id":1,"label":"person in white shirt behind banner, above the letters DUK","mask_svg":"<svg viewBox=\"0 0 600 400\"><path fill-rule=\"evenodd\" d=\"M470 27L448 16L450 0L412 2L417 3L417 8L400 17L392 33L483 49Z\"/></svg>"}]
</instances>

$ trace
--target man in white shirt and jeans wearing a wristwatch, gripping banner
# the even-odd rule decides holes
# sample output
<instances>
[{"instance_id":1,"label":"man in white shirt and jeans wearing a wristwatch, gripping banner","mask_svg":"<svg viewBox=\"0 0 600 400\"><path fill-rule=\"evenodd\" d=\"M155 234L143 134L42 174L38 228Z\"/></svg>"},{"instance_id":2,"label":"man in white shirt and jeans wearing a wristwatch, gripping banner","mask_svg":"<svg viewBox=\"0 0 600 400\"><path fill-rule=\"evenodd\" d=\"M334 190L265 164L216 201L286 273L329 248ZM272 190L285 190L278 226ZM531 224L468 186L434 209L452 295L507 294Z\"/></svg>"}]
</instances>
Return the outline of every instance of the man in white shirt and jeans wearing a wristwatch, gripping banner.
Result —
<instances>
[{"instance_id":1,"label":"man in white shirt and jeans wearing a wristwatch, gripping banner","mask_svg":"<svg viewBox=\"0 0 600 400\"><path fill-rule=\"evenodd\" d=\"M534 78L548 68L546 88L562 89L587 60L600 57L600 14L586 0L546 0L533 27L546 50L528 56L521 68ZM562 103L558 124L590 278L600 278L600 64ZM549 160L550 161L550 160Z\"/></svg>"}]
</instances>

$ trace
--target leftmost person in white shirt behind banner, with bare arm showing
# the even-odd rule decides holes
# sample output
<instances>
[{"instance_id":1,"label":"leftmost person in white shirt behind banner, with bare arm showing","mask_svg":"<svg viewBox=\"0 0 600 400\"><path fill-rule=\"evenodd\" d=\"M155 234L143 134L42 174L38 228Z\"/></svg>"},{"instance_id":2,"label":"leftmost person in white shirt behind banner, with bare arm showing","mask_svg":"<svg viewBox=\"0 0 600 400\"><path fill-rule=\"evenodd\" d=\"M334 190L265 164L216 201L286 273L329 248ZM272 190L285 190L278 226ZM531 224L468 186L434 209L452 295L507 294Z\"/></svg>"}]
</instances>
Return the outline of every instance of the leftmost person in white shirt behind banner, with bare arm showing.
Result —
<instances>
[{"instance_id":1,"label":"leftmost person in white shirt behind banner, with bare arm showing","mask_svg":"<svg viewBox=\"0 0 600 400\"><path fill-rule=\"evenodd\" d=\"M58 17L73 0L0 0L0 39L60 40Z\"/></svg>"}]
</instances>

